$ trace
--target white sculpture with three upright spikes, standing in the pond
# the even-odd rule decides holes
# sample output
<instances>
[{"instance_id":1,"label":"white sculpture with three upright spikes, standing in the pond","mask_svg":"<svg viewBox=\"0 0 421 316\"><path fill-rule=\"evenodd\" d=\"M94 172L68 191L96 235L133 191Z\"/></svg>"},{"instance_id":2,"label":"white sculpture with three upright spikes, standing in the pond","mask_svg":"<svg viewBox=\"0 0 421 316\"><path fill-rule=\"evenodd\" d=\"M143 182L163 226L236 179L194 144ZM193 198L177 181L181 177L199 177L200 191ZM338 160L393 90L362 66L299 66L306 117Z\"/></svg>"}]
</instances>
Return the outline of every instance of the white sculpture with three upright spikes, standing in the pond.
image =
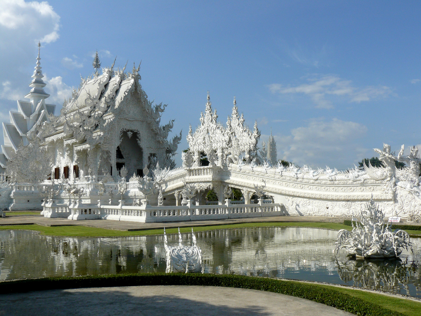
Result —
<instances>
[{"instance_id":1,"label":"white sculpture with three upright spikes, standing in the pond","mask_svg":"<svg viewBox=\"0 0 421 316\"><path fill-rule=\"evenodd\" d=\"M196 236L192 228L192 246L184 246L179 228L179 245L168 246L164 228L164 247L167 260L166 273L170 272L202 272L202 250L196 244Z\"/></svg>"}]
</instances>

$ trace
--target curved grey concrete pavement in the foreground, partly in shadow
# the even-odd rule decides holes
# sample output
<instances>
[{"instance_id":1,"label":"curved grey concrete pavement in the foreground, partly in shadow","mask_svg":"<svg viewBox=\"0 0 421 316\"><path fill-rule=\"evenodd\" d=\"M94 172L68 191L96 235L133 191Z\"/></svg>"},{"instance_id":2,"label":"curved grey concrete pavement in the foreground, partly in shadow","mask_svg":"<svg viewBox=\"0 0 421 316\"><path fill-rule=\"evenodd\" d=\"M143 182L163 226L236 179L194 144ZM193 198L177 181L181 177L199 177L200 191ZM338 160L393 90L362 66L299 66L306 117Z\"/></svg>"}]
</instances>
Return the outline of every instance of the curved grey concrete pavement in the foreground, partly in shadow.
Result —
<instances>
[{"instance_id":1,"label":"curved grey concrete pavement in the foreground, partly in shadow","mask_svg":"<svg viewBox=\"0 0 421 316\"><path fill-rule=\"evenodd\" d=\"M0 315L345 316L302 298L227 287L143 286L0 295Z\"/></svg>"}]
</instances>

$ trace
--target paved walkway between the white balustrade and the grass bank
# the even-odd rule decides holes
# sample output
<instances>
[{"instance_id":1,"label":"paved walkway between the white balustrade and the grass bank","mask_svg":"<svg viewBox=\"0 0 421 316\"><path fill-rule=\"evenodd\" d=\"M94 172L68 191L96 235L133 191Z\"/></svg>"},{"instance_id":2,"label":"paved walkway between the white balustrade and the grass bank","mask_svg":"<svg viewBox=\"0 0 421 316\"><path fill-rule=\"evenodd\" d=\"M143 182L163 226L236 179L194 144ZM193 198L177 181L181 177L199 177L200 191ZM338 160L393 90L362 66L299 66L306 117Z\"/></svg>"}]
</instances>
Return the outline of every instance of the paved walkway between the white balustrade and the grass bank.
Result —
<instances>
[{"instance_id":1,"label":"paved walkway between the white balustrade and the grass bank","mask_svg":"<svg viewBox=\"0 0 421 316\"><path fill-rule=\"evenodd\" d=\"M7 213L6 213L7 214ZM247 222L333 222L343 223L346 217L326 217L326 216L272 216L272 217L254 217L254 218L234 218L224 220L196 220L184 222L166 222L166 223L137 223L124 222L116 220L67 220L66 218L46 218L40 215L13 215L6 218L0 218L0 225L16 224L38 224L44 226L64 226L64 225L83 225L97 228L107 228L115 230L147 230L173 228L173 227L194 227L206 225L226 225L240 224Z\"/></svg>"}]
</instances>

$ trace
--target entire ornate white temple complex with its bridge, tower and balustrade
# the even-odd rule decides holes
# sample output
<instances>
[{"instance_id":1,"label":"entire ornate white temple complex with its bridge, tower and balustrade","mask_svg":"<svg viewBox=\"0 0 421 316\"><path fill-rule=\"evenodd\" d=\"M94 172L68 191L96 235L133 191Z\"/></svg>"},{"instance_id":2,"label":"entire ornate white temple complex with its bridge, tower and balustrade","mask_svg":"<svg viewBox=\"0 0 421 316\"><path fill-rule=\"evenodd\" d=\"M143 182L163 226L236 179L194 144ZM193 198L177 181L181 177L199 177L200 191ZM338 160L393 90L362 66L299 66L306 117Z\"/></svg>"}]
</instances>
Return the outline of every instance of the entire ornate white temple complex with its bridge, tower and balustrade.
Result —
<instances>
[{"instance_id":1,"label":"entire ornate white temple complex with its bridge, tower and balustrade","mask_svg":"<svg viewBox=\"0 0 421 316\"><path fill-rule=\"evenodd\" d=\"M100 72L100 66L96 56L93 75L82 79L60 115L54 116L55 106L44 101L48 94L42 89L38 54L33 89L27 95L31 102L18 101L19 112L11 112L11 123L3 123L0 160L12 190L11 210L136 222L357 216L373 197L384 216L421 221L421 159L416 148L407 156L403 146L397 156L386 144L375 149L382 168L285 167L277 162L272 133L267 147L258 150L257 123L252 129L245 125L235 98L231 116L225 125L220 123L208 93L200 124L195 131L189 127L183 165L175 168L173 155L181 133L168 140L173 121L160 125L166 105L148 100L140 68L133 65L132 72L125 72L125 67L115 70L113 64ZM398 169L395 161L407 167ZM241 190L242 201L230 200L231 188ZM211 189L218 205L206 205ZM252 195L258 197L257 204L251 203ZM7 198L3 194L0 200L5 203Z\"/></svg>"}]
</instances>

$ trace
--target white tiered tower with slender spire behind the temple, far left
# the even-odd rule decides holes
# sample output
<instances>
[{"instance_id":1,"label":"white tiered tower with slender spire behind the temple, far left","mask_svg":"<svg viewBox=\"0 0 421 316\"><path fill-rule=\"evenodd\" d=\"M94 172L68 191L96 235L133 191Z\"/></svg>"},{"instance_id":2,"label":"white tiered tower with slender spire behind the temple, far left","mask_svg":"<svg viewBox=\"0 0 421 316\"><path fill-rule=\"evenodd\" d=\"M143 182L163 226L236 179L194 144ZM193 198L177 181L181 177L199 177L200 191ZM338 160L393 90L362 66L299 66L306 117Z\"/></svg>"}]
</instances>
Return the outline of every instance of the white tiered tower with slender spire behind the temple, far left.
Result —
<instances>
[{"instance_id":1,"label":"white tiered tower with slender spire behind the temple, far left","mask_svg":"<svg viewBox=\"0 0 421 316\"><path fill-rule=\"evenodd\" d=\"M19 145L28 145L28 135L33 132L37 125L48 120L47 114L54 114L56 105L45 104L45 99L50 95L44 91L46 86L43 81L43 71L40 66L40 47L38 43L37 65L35 66L31 91L24 96L28 101L18 100L18 111L10 111L10 123L3 122L4 145L1 145L0 172L4 173L7 161L11 153L17 150Z\"/></svg>"}]
</instances>

